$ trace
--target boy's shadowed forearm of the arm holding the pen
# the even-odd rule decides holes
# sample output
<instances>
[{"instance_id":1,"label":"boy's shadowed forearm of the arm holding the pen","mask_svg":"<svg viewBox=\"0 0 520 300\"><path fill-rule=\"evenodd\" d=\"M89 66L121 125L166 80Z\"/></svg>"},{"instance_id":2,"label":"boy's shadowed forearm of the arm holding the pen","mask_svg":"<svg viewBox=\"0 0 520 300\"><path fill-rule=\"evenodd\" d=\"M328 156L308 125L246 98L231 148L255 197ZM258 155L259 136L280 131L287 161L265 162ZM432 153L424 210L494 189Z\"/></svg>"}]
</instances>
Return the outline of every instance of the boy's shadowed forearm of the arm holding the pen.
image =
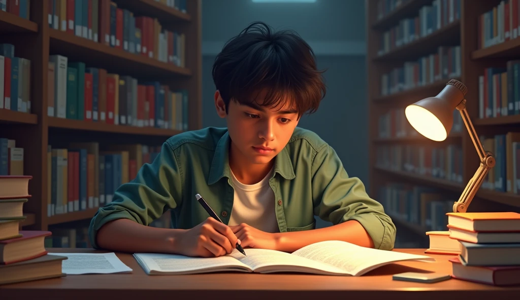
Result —
<instances>
[{"instance_id":1,"label":"boy's shadowed forearm of the arm holding the pen","mask_svg":"<svg viewBox=\"0 0 520 300\"><path fill-rule=\"evenodd\" d=\"M118 219L99 228L99 247L121 252L176 253L176 240L183 229L156 228Z\"/></svg>"}]
</instances>

